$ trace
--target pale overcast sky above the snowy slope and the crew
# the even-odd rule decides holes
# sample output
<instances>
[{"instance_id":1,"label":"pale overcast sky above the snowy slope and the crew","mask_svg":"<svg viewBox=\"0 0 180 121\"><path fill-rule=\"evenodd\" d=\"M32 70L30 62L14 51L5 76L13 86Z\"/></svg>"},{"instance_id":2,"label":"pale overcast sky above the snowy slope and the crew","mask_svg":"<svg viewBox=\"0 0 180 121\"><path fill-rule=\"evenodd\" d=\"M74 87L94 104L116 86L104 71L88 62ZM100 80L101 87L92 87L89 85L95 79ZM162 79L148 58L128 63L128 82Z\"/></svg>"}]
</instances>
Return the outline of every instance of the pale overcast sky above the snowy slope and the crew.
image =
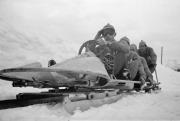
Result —
<instances>
[{"instance_id":1,"label":"pale overcast sky above the snowy slope and the crew","mask_svg":"<svg viewBox=\"0 0 180 121\"><path fill-rule=\"evenodd\" d=\"M0 0L0 19L16 29L40 31L81 45L105 24L116 39L127 36L152 46L160 59L180 60L179 0Z\"/></svg>"}]
</instances>

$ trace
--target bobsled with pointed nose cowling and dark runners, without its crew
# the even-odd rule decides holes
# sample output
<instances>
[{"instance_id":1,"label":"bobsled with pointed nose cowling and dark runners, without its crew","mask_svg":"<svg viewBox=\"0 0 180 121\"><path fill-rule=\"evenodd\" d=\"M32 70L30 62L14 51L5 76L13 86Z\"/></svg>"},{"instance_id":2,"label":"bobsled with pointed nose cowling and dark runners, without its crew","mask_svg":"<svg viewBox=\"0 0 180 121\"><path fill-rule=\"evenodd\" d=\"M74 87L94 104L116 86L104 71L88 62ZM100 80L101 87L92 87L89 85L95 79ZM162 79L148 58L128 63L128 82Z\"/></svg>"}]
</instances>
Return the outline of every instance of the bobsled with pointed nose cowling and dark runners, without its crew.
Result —
<instances>
[{"instance_id":1,"label":"bobsled with pointed nose cowling and dark runners, without its crew","mask_svg":"<svg viewBox=\"0 0 180 121\"><path fill-rule=\"evenodd\" d=\"M40 93L19 93L16 99L0 101L0 109L53 102L65 105L77 105L79 102L81 105L88 100L99 99L109 103L109 100L118 100L121 94L140 91L140 81L112 78L93 52L82 54L87 43L85 45L81 46L78 56L49 67L42 67L37 62L0 70L0 79L11 81L13 87L49 89ZM159 84L145 88L144 92L160 90Z\"/></svg>"}]
</instances>

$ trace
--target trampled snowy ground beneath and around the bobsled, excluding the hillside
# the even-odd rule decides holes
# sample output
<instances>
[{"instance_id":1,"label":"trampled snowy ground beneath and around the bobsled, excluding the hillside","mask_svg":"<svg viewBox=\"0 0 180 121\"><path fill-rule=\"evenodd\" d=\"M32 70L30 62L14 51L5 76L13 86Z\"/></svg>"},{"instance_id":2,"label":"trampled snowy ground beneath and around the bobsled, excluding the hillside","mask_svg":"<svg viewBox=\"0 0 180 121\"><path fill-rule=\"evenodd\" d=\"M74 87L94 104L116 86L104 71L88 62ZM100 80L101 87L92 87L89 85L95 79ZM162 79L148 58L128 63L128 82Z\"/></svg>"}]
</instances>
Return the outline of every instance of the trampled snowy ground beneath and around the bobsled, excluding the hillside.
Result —
<instances>
[{"instance_id":1,"label":"trampled snowy ground beneath and around the bobsled, excluding the hillside","mask_svg":"<svg viewBox=\"0 0 180 121\"><path fill-rule=\"evenodd\" d=\"M119 101L87 111L76 110L73 115L62 105L33 105L0 111L0 121L59 121L59 120L179 120L180 74L158 65L157 72L162 91L153 94L127 95ZM155 77L155 76L154 76ZM9 82L0 81L0 99L13 98L32 88L11 88Z\"/></svg>"}]
</instances>

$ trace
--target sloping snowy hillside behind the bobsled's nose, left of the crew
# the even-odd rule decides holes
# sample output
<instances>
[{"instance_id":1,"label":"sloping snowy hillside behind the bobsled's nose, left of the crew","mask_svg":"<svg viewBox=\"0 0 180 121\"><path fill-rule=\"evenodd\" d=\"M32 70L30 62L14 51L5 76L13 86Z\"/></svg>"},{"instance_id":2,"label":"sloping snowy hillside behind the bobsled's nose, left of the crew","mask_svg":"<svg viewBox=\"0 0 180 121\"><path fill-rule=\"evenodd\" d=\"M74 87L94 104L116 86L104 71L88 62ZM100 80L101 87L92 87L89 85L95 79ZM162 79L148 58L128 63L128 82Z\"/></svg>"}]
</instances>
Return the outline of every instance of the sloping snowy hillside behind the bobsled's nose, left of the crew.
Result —
<instances>
[{"instance_id":1,"label":"sloping snowy hillside behind the bobsled's nose, left of the crew","mask_svg":"<svg viewBox=\"0 0 180 121\"><path fill-rule=\"evenodd\" d=\"M61 61L75 56L78 52L75 44L59 36L39 29L17 29L0 17L0 68L36 61L47 66L50 59Z\"/></svg>"}]
</instances>

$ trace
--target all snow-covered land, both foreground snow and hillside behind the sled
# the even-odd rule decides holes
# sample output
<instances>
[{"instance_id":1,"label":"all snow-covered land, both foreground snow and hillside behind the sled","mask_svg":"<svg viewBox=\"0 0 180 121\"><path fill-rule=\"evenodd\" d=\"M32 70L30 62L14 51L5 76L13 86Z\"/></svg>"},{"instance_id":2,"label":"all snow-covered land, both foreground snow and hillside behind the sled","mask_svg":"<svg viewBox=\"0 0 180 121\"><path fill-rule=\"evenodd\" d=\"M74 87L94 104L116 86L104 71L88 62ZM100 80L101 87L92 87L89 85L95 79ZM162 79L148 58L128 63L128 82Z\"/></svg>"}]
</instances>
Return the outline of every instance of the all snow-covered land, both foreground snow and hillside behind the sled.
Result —
<instances>
[{"instance_id":1,"label":"all snow-covered land, both foreground snow and hillside behind the sled","mask_svg":"<svg viewBox=\"0 0 180 121\"><path fill-rule=\"evenodd\" d=\"M38 35L39 40L36 40L31 38L34 34L26 36L24 33L18 33L16 29L9 28L9 25L6 25L3 21L0 24L1 69L16 67L34 61L42 62L43 66L47 66L47 61L51 57L59 62L77 54L78 47L70 45L68 41L62 41L60 44L56 39L53 40L53 37L44 40L44 36L41 34ZM58 44L60 44L60 48L58 48ZM33 105L0 110L0 121L180 120L180 73L160 64L157 66L157 72L159 81L162 83L160 93L123 96L123 98L112 104L92 107L86 111L75 110L73 115L69 114L61 104ZM12 88L10 82L0 80L1 100L14 98L17 93L29 91L37 92L42 90Z\"/></svg>"}]
</instances>

